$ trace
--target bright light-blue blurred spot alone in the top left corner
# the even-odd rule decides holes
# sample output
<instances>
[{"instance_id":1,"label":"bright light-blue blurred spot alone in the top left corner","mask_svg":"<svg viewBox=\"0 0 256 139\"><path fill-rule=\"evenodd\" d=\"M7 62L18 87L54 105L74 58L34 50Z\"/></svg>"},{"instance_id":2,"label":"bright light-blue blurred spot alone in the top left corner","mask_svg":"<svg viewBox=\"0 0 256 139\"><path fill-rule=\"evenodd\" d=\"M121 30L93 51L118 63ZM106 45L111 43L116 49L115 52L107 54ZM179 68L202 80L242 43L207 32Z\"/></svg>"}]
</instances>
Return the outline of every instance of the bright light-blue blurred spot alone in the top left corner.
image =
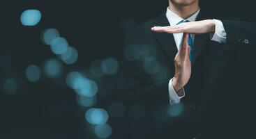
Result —
<instances>
[{"instance_id":1,"label":"bright light-blue blurred spot alone in the top left corner","mask_svg":"<svg viewBox=\"0 0 256 139\"><path fill-rule=\"evenodd\" d=\"M24 26L35 26L40 22L41 13L36 9L24 10L20 16L20 21Z\"/></svg>"}]
</instances>

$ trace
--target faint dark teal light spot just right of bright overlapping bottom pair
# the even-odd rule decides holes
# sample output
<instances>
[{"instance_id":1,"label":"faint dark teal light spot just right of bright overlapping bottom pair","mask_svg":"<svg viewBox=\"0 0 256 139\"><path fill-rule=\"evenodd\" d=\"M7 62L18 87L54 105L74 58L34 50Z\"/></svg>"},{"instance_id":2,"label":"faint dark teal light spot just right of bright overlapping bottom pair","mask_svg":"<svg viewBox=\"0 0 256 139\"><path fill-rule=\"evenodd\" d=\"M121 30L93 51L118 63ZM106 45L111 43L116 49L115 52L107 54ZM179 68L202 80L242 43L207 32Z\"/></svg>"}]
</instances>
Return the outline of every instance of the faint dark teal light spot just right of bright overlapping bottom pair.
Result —
<instances>
[{"instance_id":1,"label":"faint dark teal light spot just right of bright overlapping bottom pair","mask_svg":"<svg viewBox=\"0 0 256 139\"><path fill-rule=\"evenodd\" d=\"M112 117L122 117L123 114L126 112L126 107L120 101L112 102L109 106L109 113Z\"/></svg>"}]
</instances>

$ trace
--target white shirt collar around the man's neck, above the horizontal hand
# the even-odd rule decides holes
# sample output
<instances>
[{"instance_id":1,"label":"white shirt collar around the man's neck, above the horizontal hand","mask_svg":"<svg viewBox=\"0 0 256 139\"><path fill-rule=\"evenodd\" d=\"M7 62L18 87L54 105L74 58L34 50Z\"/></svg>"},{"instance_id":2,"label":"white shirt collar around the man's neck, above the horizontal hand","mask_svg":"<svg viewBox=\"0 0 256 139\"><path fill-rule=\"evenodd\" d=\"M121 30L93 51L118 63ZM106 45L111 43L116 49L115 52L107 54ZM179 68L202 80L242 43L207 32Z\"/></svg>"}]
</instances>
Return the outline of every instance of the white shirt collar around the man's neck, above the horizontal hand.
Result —
<instances>
[{"instance_id":1,"label":"white shirt collar around the man's neck, above the horizontal hand","mask_svg":"<svg viewBox=\"0 0 256 139\"><path fill-rule=\"evenodd\" d=\"M197 10L197 12L195 12L193 15L188 17L186 20L188 20L189 22L195 22L195 19L197 18L197 15L199 14L199 12L200 12L200 8ZM179 17L179 15L176 15L176 13L173 13L169 9L169 7L167 8L166 17L170 23L170 26L174 26L179 22L181 22L182 20L184 20L182 17Z\"/></svg>"}]
</instances>

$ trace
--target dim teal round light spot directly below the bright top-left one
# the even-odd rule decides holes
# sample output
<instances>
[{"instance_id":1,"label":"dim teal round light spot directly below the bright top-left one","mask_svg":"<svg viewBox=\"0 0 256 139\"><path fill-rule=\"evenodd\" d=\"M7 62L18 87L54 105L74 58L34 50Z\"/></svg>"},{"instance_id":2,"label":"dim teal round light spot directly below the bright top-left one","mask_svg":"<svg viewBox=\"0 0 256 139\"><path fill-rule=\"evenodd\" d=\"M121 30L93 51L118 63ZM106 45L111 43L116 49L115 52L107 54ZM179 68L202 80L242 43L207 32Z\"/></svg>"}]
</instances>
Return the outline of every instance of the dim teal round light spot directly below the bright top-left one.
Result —
<instances>
[{"instance_id":1,"label":"dim teal round light spot directly below the bright top-left one","mask_svg":"<svg viewBox=\"0 0 256 139\"><path fill-rule=\"evenodd\" d=\"M40 79L40 69L38 66L36 65L29 65L26 69L26 77L29 81L31 82L35 82L38 81Z\"/></svg>"}]
</instances>

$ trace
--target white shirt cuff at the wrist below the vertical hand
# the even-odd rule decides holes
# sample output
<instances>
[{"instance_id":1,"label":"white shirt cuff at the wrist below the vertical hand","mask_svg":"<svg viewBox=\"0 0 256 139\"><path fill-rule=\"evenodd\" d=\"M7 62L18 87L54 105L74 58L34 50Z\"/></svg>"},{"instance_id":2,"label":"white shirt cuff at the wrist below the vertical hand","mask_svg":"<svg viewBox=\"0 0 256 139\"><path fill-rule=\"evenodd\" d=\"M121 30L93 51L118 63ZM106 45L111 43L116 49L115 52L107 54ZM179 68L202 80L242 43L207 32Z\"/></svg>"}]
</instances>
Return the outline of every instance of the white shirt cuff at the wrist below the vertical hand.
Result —
<instances>
[{"instance_id":1,"label":"white shirt cuff at the wrist below the vertical hand","mask_svg":"<svg viewBox=\"0 0 256 139\"><path fill-rule=\"evenodd\" d=\"M181 98L185 97L185 90L182 88L178 92L175 92L173 86L172 86L172 79L170 79L168 83L169 88L169 97L170 97L170 104L179 104L181 101Z\"/></svg>"}]
</instances>

